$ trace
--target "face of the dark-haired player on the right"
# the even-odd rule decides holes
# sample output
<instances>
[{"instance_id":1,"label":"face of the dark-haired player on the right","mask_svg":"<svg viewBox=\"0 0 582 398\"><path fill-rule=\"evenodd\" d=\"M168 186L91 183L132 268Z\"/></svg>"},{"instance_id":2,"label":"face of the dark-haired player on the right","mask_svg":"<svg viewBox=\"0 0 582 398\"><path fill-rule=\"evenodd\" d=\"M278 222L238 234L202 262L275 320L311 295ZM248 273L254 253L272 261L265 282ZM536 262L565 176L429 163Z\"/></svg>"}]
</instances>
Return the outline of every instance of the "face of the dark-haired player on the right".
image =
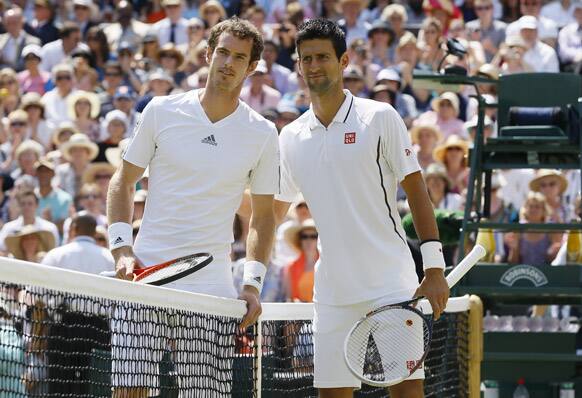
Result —
<instances>
[{"instance_id":1,"label":"face of the dark-haired player on the right","mask_svg":"<svg viewBox=\"0 0 582 398\"><path fill-rule=\"evenodd\" d=\"M341 84L349 59L344 54L338 60L330 40L306 40L298 50L299 70L310 91L323 94Z\"/></svg>"}]
</instances>

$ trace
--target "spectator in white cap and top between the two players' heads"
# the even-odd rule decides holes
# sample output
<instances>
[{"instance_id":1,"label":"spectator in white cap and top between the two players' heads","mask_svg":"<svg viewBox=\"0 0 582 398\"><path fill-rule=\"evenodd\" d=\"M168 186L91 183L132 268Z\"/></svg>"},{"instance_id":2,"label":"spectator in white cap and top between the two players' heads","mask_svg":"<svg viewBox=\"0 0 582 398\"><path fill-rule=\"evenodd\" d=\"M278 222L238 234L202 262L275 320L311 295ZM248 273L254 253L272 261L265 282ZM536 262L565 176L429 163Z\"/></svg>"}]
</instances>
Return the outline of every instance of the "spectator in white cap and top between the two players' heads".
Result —
<instances>
[{"instance_id":1,"label":"spectator in white cap and top between the two players' heads","mask_svg":"<svg viewBox=\"0 0 582 398\"><path fill-rule=\"evenodd\" d=\"M281 100L281 93L267 83L268 73L266 62L260 60L255 72L248 78L250 84L244 86L240 93L240 98L259 113L275 108Z\"/></svg>"}]
</instances>

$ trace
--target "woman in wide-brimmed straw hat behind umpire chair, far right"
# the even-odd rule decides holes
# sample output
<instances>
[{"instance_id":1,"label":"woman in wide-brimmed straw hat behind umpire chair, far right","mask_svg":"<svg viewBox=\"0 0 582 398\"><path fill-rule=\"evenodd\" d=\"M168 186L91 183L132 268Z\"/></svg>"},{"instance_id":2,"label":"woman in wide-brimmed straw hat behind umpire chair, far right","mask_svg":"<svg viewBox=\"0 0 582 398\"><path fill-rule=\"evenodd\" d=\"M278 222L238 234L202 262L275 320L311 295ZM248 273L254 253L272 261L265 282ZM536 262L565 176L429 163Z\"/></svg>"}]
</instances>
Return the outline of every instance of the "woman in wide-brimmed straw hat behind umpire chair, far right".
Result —
<instances>
[{"instance_id":1,"label":"woman in wide-brimmed straw hat behind umpire chair, far right","mask_svg":"<svg viewBox=\"0 0 582 398\"><path fill-rule=\"evenodd\" d=\"M538 170L535 177L529 182L529 189L540 192L546 198L551 209L549 222L569 222L568 207L562 201L562 195L568 189L568 180L558 170Z\"/></svg>"}]
</instances>

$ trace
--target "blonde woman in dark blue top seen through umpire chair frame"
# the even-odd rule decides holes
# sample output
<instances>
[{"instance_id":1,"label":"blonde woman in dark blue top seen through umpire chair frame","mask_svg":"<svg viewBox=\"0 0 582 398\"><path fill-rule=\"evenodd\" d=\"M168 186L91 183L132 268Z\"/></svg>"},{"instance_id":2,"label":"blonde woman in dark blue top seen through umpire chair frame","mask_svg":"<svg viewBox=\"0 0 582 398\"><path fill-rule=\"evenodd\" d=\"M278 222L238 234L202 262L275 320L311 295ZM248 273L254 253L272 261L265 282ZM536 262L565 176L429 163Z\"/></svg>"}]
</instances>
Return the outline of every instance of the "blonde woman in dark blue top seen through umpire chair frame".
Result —
<instances>
[{"instance_id":1,"label":"blonde woman in dark blue top seen through umpire chair frame","mask_svg":"<svg viewBox=\"0 0 582 398\"><path fill-rule=\"evenodd\" d=\"M539 192L530 192L519 212L521 223L546 223L552 209ZM510 264L550 264L560 250L562 233L509 232L505 234L507 262Z\"/></svg>"}]
</instances>

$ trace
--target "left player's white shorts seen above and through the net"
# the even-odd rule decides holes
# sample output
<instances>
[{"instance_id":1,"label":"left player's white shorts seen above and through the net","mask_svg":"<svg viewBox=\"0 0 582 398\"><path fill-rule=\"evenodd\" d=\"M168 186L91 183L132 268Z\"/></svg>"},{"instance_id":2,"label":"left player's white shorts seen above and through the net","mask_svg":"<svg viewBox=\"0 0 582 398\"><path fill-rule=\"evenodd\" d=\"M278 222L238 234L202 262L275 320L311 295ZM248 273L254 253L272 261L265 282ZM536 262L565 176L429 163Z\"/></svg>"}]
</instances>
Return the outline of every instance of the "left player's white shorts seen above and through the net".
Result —
<instances>
[{"instance_id":1,"label":"left player's white shorts seen above and through the net","mask_svg":"<svg viewBox=\"0 0 582 398\"><path fill-rule=\"evenodd\" d=\"M168 287L221 297L236 297L232 285L185 285ZM221 327L224 329L224 324ZM179 387L195 396L195 389L208 380L232 380L235 356L235 329L213 328L208 318L188 316L181 311L143 306L115 308L111 319L111 356L113 387L159 387L159 366L162 358L170 358ZM217 362L220 362L217 366ZM228 362L228 363L227 363ZM214 365L214 366L213 366ZM217 391L212 397L230 396L230 386L217 383L228 391ZM182 397L190 396L188 393Z\"/></svg>"}]
</instances>

